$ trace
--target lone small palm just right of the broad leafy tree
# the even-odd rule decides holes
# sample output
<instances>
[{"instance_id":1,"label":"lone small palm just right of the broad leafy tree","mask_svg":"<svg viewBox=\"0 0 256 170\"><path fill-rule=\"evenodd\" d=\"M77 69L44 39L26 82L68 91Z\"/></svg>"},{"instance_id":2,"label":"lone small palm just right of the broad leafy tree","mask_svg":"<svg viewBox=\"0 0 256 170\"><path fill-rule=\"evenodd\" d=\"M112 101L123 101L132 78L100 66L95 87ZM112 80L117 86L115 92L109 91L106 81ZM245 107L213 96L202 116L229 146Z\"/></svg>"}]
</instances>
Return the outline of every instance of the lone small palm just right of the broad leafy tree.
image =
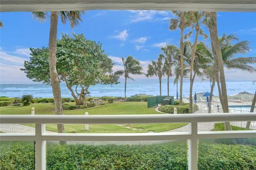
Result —
<instances>
[{"instance_id":1,"label":"lone small palm just right of the broad leafy tree","mask_svg":"<svg viewBox=\"0 0 256 170\"><path fill-rule=\"evenodd\" d=\"M142 74L142 66L138 60L135 60L132 56L128 56L126 60L122 57L124 70L118 70L115 72L115 75L121 76L124 75L124 96L126 98L126 83L127 79L134 80L130 77L130 74Z\"/></svg>"}]
</instances>

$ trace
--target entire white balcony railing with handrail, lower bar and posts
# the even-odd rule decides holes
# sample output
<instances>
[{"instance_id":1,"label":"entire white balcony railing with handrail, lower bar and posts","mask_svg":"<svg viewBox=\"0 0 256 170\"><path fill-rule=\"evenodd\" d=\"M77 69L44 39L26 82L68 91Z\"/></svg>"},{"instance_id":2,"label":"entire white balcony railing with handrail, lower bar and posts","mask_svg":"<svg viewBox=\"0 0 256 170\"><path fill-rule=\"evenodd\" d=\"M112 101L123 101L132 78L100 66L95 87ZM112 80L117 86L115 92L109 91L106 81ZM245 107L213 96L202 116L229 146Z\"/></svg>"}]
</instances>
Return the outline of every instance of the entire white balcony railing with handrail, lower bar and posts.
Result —
<instances>
[{"instance_id":1,"label":"entire white balcony railing with handrail, lower bar and posts","mask_svg":"<svg viewBox=\"0 0 256 170\"><path fill-rule=\"evenodd\" d=\"M199 122L256 121L256 113L239 114L174 114L174 115L1 115L1 124L33 123L34 133L0 133L0 141L36 141L36 169L46 168L46 141L139 141L188 140L188 167L197 169L198 140L220 138L256 138L256 130L197 130ZM45 124L137 124L189 123L188 132L162 133L46 133Z\"/></svg>"}]
</instances>

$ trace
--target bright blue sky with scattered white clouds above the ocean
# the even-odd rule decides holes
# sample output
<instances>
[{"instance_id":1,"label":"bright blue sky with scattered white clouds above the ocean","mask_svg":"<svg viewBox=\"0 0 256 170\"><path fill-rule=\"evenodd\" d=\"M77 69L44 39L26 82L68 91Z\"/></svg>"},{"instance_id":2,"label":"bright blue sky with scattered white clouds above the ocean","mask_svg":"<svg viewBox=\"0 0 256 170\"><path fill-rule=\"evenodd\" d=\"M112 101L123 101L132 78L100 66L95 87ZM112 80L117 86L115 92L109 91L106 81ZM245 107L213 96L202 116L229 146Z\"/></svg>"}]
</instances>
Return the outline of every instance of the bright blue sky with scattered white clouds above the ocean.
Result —
<instances>
[{"instance_id":1,"label":"bright blue sky with scattered white clouds above the ocean","mask_svg":"<svg viewBox=\"0 0 256 170\"><path fill-rule=\"evenodd\" d=\"M1 83L31 82L19 69L29 58L29 47L48 45L50 21L40 23L32 18L30 12L0 14L4 23L0 29ZM161 46L179 44L179 30L169 30L172 17L170 11L86 11L82 16L83 22L74 29L59 20L58 38L61 33L83 33L87 39L102 43L106 54L115 62L114 70L121 69L121 57L129 55L141 61L146 70L147 64L161 53ZM250 52L240 56L256 56L256 13L219 12L218 29L219 36L234 33L239 41L251 42ZM207 29L204 30L208 33ZM190 40L194 41L194 37ZM209 39L204 41L209 44ZM256 80L255 74L238 70L227 70L226 77L229 81Z\"/></svg>"}]
</instances>

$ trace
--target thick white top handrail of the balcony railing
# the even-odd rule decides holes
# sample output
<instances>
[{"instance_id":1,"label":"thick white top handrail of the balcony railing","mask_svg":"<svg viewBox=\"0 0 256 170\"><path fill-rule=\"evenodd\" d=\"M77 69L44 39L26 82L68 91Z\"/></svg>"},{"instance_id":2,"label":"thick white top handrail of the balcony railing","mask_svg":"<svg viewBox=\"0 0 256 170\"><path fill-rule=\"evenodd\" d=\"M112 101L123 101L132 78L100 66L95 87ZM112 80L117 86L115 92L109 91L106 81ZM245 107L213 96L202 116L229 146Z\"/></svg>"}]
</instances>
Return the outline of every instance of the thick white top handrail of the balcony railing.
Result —
<instances>
[{"instance_id":1,"label":"thick white top handrail of the balcony railing","mask_svg":"<svg viewBox=\"0 0 256 170\"><path fill-rule=\"evenodd\" d=\"M0 115L0 123L198 123L256 121L256 113L158 114L158 115Z\"/></svg>"}]
</instances>

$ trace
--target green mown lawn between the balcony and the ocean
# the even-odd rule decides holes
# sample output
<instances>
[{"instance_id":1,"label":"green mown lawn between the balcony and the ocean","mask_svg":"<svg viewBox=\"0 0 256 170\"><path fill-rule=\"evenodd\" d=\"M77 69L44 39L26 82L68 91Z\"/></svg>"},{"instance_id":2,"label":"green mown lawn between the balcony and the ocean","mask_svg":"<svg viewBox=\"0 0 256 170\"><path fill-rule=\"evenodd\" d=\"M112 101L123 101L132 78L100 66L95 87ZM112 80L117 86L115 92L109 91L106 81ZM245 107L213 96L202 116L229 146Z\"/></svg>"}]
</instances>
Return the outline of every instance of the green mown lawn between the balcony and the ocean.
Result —
<instances>
[{"instance_id":1,"label":"green mown lawn between the balcony and the ocean","mask_svg":"<svg viewBox=\"0 0 256 170\"><path fill-rule=\"evenodd\" d=\"M74 103L73 103L74 104ZM0 114L30 114L31 107L35 107L36 115L54 114L54 105L32 104L30 106L6 106L0 107ZM76 111L63 111L66 115L84 115L88 112L90 115L126 115L126 114L161 114L155 111L155 108L147 108L146 102L116 102L113 104L100 105L97 107L80 109ZM35 126L34 124L26 124ZM163 124L90 124L89 131L84 130L82 124L66 124L67 133L136 133L136 132L164 132L180 128L185 123L163 123ZM136 129L136 130L135 130ZM55 124L47 124L46 130L57 132Z\"/></svg>"}]
</instances>

